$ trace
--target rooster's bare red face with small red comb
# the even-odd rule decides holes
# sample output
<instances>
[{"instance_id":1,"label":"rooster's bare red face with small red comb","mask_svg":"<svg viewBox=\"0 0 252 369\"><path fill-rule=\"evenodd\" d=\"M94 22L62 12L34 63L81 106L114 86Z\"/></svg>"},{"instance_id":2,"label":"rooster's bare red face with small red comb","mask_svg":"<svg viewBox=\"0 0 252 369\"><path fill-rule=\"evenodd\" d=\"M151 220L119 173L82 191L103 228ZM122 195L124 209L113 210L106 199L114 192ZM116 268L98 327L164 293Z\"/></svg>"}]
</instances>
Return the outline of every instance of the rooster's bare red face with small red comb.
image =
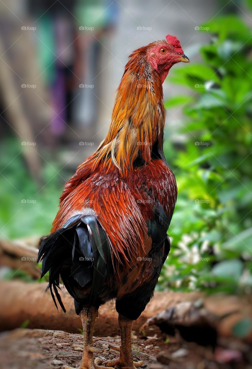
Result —
<instances>
[{"instance_id":1,"label":"rooster's bare red face with small red comb","mask_svg":"<svg viewBox=\"0 0 252 369\"><path fill-rule=\"evenodd\" d=\"M148 52L148 60L152 67L159 74L162 83L167 77L170 68L181 62L181 55L184 55L184 51L177 37L172 35L167 35L166 40L168 42L161 42L153 46ZM162 53L161 49L165 49L166 53Z\"/></svg>"}]
</instances>

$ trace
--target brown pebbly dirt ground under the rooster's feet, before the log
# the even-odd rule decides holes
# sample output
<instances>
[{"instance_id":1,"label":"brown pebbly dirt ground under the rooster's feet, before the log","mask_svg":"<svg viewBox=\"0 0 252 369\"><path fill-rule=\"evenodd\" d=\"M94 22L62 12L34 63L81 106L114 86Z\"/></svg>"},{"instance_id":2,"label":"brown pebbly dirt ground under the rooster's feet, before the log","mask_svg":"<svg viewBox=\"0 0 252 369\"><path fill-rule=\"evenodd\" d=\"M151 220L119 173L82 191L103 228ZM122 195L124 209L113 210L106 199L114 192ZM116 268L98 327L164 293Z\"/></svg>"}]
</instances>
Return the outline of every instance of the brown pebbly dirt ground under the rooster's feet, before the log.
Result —
<instances>
[{"instance_id":1,"label":"brown pebbly dirt ground under the rooster's feet, before the log","mask_svg":"<svg viewBox=\"0 0 252 369\"><path fill-rule=\"evenodd\" d=\"M95 357L105 361L119 355L108 348L108 342L119 345L120 337L94 337L95 347L104 349ZM82 348L81 334L19 328L0 334L0 368L60 369L62 365L77 368ZM144 360L145 367L150 369L252 369L248 357L239 356L238 351L217 348L214 353L211 347L186 342L176 336L137 337L133 333L132 349L134 360ZM247 355L251 356L252 352L248 350Z\"/></svg>"}]
</instances>

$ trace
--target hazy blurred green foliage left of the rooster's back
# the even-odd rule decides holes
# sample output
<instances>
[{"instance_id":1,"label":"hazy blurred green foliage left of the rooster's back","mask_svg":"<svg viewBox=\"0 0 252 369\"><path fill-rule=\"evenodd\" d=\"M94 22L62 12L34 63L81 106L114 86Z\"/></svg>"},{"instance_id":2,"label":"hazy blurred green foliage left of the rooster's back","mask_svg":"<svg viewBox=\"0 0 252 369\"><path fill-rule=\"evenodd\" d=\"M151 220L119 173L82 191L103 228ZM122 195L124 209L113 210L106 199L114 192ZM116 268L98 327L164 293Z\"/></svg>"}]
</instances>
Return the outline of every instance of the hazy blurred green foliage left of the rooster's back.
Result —
<instances>
[{"instance_id":1,"label":"hazy blurred green foliage left of the rooster's back","mask_svg":"<svg viewBox=\"0 0 252 369\"><path fill-rule=\"evenodd\" d=\"M56 175L59 169L51 163L44 166L44 184L38 186L24 165L21 149L20 143L13 139L6 140L0 148L1 238L48 234L64 185L62 177ZM47 158L46 154L43 156Z\"/></svg>"}]
</instances>

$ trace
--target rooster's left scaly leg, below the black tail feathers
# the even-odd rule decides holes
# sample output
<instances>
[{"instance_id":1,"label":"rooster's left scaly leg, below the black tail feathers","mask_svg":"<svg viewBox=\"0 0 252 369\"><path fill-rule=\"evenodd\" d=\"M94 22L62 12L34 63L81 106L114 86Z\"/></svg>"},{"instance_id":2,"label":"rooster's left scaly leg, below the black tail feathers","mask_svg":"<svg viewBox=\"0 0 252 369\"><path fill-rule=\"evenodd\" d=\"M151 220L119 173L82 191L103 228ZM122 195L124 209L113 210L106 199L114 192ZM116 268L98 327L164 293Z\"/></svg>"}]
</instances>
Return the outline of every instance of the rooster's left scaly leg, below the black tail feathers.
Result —
<instances>
[{"instance_id":1,"label":"rooster's left scaly leg, below the black tail feathers","mask_svg":"<svg viewBox=\"0 0 252 369\"><path fill-rule=\"evenodd\" d=\"M101 359L95 359L94 354L100 354L103 352L102 349L96 349L93 346L93 332L94 332L94 324L95 319L98 315L98 311L95 307L84 306L81 310L80 316L83 325L83 336L84 336L84 347L83 347L83 355L81 359L81 365L79 369L104 369L104 366L99 366L97 363L101 363ZM63 366L65 369L74 369L70 366Z\"/></svg>"}]
</instances>

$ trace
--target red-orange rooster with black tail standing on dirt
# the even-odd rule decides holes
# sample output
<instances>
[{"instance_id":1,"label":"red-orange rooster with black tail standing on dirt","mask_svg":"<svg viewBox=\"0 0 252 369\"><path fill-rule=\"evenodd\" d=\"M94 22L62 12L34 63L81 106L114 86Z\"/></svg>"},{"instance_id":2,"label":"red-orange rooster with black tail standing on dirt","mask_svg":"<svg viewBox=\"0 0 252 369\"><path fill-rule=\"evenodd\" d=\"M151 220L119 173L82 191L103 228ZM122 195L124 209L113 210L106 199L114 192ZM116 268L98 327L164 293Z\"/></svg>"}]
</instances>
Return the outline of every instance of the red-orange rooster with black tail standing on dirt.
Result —
<instances>
[{"instance_id":1,"label":"red-orange rooster with black tail standing on dirt","mask_svg":"<svg viewBox=\"0 0 252 369\"><path fill-rule=\"evenodd\" d=\"M120 356L103 365L135 369L143 364L133 362L131 328L153 296L170 249L167 230L177 185L163 152L162 83L178 62L189 59L171 35L132 52L107 137L65 184L51 233L40 245L41 276L49 270L56 307L57 299L65 311L61 278L81 317L80 369L104 368L93 357L101 352L93 346L93 330L98 308L112 299Z\"/></svg>"}]
</instances>

